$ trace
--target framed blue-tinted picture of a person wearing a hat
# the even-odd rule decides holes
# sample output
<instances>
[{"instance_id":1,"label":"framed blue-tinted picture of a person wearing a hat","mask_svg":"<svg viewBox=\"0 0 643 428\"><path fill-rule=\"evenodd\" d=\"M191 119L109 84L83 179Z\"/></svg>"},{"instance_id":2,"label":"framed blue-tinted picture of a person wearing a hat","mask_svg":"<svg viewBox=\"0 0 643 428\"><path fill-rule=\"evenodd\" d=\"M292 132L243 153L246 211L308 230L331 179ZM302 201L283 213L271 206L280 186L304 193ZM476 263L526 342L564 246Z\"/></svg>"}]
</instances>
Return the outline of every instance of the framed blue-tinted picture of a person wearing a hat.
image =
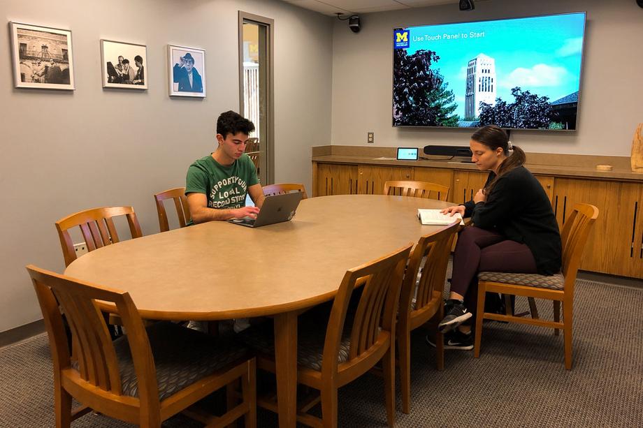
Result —
<instances>
[{"instance_id":1,"label":"framed blue-tinted picture of a person wearing a hat","mask_svg":"<svg viewBox=\"0 0 643 428\"><path fill-rule=\"evenodd\" d=\"M205 50L168 45L170 96L205 98Z\"/></svg>"}]
</instances>

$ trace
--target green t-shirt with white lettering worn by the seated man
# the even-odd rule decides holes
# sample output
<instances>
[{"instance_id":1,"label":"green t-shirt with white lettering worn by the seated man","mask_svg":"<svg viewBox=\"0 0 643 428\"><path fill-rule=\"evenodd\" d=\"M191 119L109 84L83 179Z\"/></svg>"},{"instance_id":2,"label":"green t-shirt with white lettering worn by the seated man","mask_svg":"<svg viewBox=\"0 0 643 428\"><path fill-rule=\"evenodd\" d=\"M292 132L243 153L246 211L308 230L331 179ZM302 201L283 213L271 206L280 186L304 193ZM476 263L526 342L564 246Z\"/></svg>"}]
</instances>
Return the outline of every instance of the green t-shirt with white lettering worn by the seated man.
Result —
<instances>
[{"instance_id":1,"label":"green t-shirt with white lettering worn by the seated man","mask_svg":"<svg viewBox=\"0 0 643 428\"><path fill-rule=\"evenodd\" d=\"M190 165L185 179L185 194L205 193L208 208L245 207L248 187L259 183L257 170L247 154L232 165L224 166L212 156L205 156Z\"/></svg>"}]
</instances>

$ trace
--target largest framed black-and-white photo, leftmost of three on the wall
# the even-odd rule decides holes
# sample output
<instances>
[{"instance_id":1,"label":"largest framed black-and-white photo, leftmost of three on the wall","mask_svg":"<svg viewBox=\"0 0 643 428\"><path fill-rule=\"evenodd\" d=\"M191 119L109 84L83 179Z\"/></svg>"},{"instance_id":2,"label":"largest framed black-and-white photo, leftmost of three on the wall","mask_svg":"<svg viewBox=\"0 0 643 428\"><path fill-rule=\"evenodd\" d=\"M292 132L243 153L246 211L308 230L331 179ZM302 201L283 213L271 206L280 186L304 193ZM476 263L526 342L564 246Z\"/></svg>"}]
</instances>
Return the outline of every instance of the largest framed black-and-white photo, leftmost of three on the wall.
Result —
<instances>
[{"instance_id":1,"label":"largest framed black-and-white photo, leftmost of three on the wall","mask_svg":"<svg viewBox=\"0 0 643 428\"><path fill-rule=\"evenodd\" d=\"M75 89L71 31L9 22L17 88Z\"/></svg>"}]
</instances>

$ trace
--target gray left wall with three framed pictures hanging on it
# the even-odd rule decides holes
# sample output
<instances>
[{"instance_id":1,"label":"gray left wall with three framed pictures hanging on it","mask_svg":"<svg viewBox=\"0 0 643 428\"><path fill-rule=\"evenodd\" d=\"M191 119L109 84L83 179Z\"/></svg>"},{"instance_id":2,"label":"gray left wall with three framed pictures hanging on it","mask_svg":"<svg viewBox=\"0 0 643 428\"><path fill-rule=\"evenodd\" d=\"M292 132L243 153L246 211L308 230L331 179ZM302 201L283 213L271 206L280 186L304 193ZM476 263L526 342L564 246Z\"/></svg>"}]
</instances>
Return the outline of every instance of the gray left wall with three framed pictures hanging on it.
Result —
<instances>
[{"instance_id":1,"label":"gray left wall with three framed pictures hanging on it","mask_svg":"<svg viewBox=\"0 0 643 428\"><path fill-rule=\"evenodd\" d=\"M0 31L0 332L42 318L24 265L64 270L57 219L132 205L143 233L158 232L152 194L185 185L216 147L219 112L239 108L238 10L275 20L275 180L310 189L310 147L331 140L331 17L276 0L0 3L6 21L71 29L76 82L14 89ZM147 45L147 91L102 89L101 38ZM205 49L207 98L168 97L168 43Z\"/></svg>"}]
</instances>

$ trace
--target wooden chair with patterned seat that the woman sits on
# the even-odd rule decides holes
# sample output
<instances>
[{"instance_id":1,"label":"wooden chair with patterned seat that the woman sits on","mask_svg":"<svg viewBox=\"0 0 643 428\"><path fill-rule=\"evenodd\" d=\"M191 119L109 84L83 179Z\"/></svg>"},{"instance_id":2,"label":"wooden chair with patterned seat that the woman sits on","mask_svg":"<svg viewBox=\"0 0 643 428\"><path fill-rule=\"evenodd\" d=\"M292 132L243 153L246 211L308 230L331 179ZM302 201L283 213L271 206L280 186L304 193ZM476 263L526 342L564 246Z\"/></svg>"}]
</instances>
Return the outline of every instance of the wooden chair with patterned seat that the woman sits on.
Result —
<instances>
[{"instance_id":1,"label":"wooden chair with patterned seat that the woman sits on","mask_svg":"<svg viewBox=\"0 0 643 428\"><path fill-rule=\"evenodd\" d=\"M572 310L574 286L581 256L587 237L598 217L598 208L588 204L577 204L565 221L561 238L563 241L563 272L552 276L538 274L514 274L505 272L480 272L478 274L477 319L475 323L474 357L480 355L482 341L482 320L499 320L513 323L540 325L540 327L563 329L565 339L565 369L572 369ZM487 291L507 295L526 296L554 301L554 321L541 320L532 311L533 318L521 318L509 313L484 312L484 296ZM563 320L561 321L561 302Z\"/></svg>"}]
</instances>

